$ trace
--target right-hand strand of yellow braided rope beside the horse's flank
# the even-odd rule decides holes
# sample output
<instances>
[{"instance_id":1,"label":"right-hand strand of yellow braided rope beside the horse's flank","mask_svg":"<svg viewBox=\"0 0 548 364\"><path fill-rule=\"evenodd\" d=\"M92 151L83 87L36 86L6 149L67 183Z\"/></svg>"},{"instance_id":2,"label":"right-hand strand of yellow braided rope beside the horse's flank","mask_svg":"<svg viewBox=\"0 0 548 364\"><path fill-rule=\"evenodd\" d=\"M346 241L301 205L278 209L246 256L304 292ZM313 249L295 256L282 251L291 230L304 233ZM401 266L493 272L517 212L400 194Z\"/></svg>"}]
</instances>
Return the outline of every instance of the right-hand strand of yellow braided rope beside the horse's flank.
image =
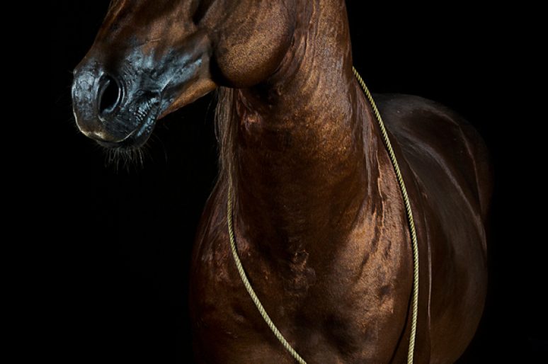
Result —
<instances>
[{"instance_id":1,"label":"right-hand strand of yellow braided rope beside the horse's flank","mask_svg":"<svg viewBox=\"0 0 548 364\"><path fill-rule=\"evenodd\" d=\"M355 67L352 67L352 70L354 72L354 75L356 76L356 79L358 79L360 86L362 86L363 92L365 93L365 96L367 96L367 99L369 100L369 103L373 108L373 113L375 113L375 118L377 118L377 122L379 123L382 140L384 140L384 146L387 148L388 154L390 156L390 161L392 161L392 166L394 166L394 171L396 172L396 177L398 178L401 195L404 198L407 222L409 223L409 231L411 232L411 246L413 248L413 297L411 299L411 336L409 336L409 351L407 352L407 363L412 364L413 354L415 352L415 339L417 332L418 316L418 243L417 234L415 231L415 222L413 221L413 211L411 211L411 203L409 203L409 197L407 196L404 178L401 176L401 171L399 171L399 164L396 160L396 154L394 154L394 149L392 149L392 143L390 142L387 130L384 127L384 123L379 113L379 109L377 109L377 105L375 104L375 101L373 100L373 96L371 96L369 89L367 89L367 86L365 86L365 82L363 81L362 76L360 76Z\"/></svg>"}]
</instances>

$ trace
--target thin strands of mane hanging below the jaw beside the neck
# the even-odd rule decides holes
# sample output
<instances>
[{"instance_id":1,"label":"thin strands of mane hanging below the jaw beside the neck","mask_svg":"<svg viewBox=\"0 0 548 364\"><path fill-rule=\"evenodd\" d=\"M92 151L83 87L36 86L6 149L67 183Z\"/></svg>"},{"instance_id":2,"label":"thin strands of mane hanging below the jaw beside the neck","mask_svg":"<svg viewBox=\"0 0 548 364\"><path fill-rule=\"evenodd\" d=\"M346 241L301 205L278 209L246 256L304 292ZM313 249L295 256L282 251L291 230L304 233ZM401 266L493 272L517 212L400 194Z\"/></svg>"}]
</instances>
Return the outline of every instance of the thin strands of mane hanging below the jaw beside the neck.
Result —
<instances>
[{"instance_id":1,"label":"thin strands of mane hanging below the jaw beside the neck","mask_svg":"<svg viewBox=\"0 0 548 364\"><path fill-rule=\"evenodd\" d=\"M233 178L236 176L236 132L238 121L234 108L234 89L220 86L215 107L215 137L219 145L219 181L227 178L236 195Z\"/></svg>"}]
</instances>

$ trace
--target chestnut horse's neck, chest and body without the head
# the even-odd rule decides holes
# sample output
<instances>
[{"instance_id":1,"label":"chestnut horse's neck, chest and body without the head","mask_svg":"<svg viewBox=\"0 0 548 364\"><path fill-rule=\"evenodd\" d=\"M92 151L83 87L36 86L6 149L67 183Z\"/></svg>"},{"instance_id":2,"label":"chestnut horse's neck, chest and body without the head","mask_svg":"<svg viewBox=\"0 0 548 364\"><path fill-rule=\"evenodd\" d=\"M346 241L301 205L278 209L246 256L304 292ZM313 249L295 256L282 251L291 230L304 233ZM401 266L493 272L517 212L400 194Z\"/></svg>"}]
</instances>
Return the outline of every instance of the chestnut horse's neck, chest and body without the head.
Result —
<instances>
[{"instance_id":1,"label":"chestnut horse's neck, chest and body without the head","mask_svg":"<svg viewBox=\"0 0 548 364\"><path fill-rule=\"evenodd\" d=\"M229 91L219 101L239 125L232 131L238 249L267 312L310 363L401 362L411 292L401 193L353 79L350 51L337 40L348 36L346 22L333 2L312 7L278 74L261 89ZM299 67L285 66L295 59ZM336 62L342 77L330 69ZM479 201L489 191L479 190L476 178L486 177L477 175L486 172L475 161L485 155L470 149L479 140L466 123L435 103L392 96L379 106L418 220L419 362L450 362L472 338L483 307ZM196 352L205 362L291 362L234 269L228 183L223 178L215 188L195 245Z\"/></svg>"}]
</instances>

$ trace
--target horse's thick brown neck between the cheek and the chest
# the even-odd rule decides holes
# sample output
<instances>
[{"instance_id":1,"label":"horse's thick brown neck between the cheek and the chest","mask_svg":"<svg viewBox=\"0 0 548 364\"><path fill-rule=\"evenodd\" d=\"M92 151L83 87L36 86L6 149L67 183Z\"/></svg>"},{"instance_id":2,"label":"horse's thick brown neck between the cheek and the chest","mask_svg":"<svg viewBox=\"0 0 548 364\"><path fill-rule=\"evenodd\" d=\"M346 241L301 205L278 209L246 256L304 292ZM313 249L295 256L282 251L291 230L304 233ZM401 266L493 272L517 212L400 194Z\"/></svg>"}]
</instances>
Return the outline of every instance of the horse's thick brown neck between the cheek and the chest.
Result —
<instances>
[{"instance_id":1,"label":"horse's thick brown neck between the cheek and the chest","mask_svg":"<svg viewBox=\"0 0 548 364\"><path fill-rule=\"evenodd\" d=\"M302 1L278 72L232 91L235 220L271 254L322 254L348 236L377 190L372 113L355 82L339 1ZM336 4L337 3L337 4Z\"/></svg>"}]
</instances>

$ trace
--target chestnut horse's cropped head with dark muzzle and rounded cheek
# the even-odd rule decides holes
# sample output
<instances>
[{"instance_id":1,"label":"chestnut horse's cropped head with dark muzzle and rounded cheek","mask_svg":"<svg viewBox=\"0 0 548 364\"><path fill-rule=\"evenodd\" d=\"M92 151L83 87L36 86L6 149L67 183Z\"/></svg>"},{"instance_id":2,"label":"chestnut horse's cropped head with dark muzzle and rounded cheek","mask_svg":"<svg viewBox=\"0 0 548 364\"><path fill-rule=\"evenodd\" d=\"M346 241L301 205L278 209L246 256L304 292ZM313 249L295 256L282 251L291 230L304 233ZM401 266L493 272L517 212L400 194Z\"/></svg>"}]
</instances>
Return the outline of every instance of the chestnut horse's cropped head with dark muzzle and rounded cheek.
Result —
<instances>
[{"instance_id":1,"label":"chestnut horse's cropped head with dark muzzle and rounded cheek","mask_svg":"<svg viewBox=\"0 0 548 364\"><path fill-rule=\"evenodd\" d=\"M113 0L74 69L79 130L103 147L140 147L156 120L217 86L258 84L291 45L290 2Z\"/></svg>"}]
</instances>

